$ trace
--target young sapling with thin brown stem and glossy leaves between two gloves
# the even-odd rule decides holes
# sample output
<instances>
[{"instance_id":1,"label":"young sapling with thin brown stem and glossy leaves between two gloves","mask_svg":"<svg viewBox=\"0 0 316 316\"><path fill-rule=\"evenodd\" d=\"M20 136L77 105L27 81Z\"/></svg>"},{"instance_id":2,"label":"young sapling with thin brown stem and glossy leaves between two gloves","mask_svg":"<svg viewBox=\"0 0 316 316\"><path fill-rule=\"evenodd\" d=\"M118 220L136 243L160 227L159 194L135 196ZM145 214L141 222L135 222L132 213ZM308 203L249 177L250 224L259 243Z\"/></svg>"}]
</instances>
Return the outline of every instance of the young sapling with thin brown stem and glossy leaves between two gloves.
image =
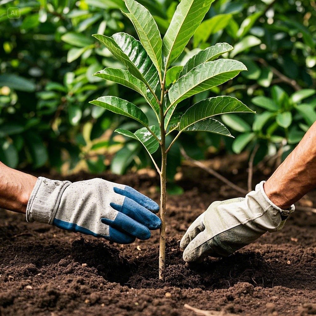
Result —
<instances>
[{"instance_id":1,"label":"young sapling with thin brown stem and glossy leaves between two gloves","mask_svg":"<svg viewBox=\"0 0 316 316\"><path fill-rule=\"evenodd\" d=\"M164 278L166 249L166 167L167 154L181 133L207 131L232 137L228 129L212 117L229 112L253 112L239 100L230 96L217 96L201 100L190 106L187 99L234 78L246 70L244 64L232 59L217 59L233 49L227 43L218 43L197 52L184 65L172 67L214 0L182 0L161 39L157 24L149 11L134 0L125 0L128 13L139 41L126 33L111 37L94 34L126 69L105 68L94 74L131 88L141 94L156 117L149 126L145 113L134 104L115 96L101 96L90 103L117 114L135 119L142 128L135 132L117 129L116 132L138 140L147 150L160 175L160 245L159 278ZM181 102L181 104L180 104ZM179 105L179 106L178 106ZM173 136L167 146L166 136ZM161 165L153 154L160 148Z\"/></svg>"}]
</instances>

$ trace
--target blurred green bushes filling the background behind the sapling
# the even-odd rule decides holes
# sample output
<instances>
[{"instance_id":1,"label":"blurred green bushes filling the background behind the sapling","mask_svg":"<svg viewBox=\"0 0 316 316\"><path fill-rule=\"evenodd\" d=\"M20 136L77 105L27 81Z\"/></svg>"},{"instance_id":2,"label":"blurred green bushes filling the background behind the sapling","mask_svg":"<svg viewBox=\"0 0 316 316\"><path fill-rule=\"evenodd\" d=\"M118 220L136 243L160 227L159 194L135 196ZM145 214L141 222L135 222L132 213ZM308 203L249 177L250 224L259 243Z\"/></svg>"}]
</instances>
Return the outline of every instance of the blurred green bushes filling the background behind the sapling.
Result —
<instances>
[{"instance_id":1,"label":"blurred green bushes filling the background behind the sapling","mask_svg":"<svg viewBox=\"0 0 316 316\"><path fill-rule=\"evenodd\" d=\"M141 0L166 31L178 1ZM105 68L124 68L91 36L124 31L137 38L122 15L122 0L0 0L0 160L11 167L50 167L69 172L88 168L99 173L111 165L116 173L150 165L141 145L114 136L115 128L136 130L124 118L91 106L100 95L127 99L143 111L145 102L131 90L92 76ZM19 8L19 18L9 18ZM125 9L126 10L126 9ZM229 152L251 152L255 163L283 158L316 119L316 2L216 0L185 52L183 65L200 49L227 42L225 57L243 62L248 71L190 102L231 95L258 115L223 115L234 140L212 134L180 137L188 155L201 159L224 146ZM149 121L150 121L149 117ZM170 152L172 178L180 163L179 148ZM111 164L112 161L112 164Z\"/></svg>"}]
</instances>

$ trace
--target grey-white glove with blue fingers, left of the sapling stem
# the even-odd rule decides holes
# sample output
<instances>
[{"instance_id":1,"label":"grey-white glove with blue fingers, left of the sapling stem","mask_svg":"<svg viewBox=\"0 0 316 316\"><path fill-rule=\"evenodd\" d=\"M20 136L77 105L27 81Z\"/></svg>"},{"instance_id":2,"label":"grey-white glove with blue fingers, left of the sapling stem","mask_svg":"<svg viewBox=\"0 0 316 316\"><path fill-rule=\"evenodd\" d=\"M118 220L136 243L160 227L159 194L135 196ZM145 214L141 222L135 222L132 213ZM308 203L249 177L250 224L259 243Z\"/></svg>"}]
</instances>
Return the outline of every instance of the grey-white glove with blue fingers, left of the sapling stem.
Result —
<instances>
[{"instance_id":1,"label":"grey-white glove with blue fingers, left of the sapling stem","mask_svg":"<svg viewBox=\"0 0 316 316\"><path fill-rule=\"evenodd\" d=\"M27 222L41 222L120 244L148 239L161 220L159 206L127 185L102 179L71 183L39 177L27 204Z\"/></svg>"}]
</instances>

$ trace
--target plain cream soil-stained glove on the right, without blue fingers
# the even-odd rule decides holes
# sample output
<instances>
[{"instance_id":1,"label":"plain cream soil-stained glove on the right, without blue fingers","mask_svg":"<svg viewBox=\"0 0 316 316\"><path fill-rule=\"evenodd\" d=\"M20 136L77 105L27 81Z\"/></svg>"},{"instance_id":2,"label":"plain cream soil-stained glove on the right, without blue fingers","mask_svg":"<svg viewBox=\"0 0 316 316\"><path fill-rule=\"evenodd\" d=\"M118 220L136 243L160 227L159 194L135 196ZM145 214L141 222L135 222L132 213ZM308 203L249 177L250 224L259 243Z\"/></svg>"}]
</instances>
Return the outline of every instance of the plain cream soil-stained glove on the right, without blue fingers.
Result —
<instances>
[{"instance_id":1,"label":"plain cream soil-stained glove on the right, without blue fingers","mask_svg":"<svg viewBox=\"0 0 316 316\"><path fill-rule=\"evenodd\" d=\"M263 184L245 198L216 201L188 228L180 241L186 262L201 262L205 257L225 257L252 243L265 232L283 228L295 210L281 210L264 192Z\"/></svg>"}]
</instances>

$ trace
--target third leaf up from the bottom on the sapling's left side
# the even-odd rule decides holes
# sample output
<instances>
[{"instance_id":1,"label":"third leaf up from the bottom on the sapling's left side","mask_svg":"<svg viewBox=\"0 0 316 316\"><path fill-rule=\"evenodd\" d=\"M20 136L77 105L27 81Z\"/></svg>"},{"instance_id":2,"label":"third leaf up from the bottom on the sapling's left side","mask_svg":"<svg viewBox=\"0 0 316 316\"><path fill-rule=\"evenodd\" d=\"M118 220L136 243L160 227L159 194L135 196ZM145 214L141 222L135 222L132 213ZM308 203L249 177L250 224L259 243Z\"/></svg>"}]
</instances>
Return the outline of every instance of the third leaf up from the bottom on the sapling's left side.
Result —
<instances>
[{"instance_id":1,"label":"third leaf up from the bottom on the sapling's left side","mask_svg":"<svg viewBox=\"0 0 316 316\"><path fill-rule=\"evenodd\" d=\"M159 104L155 97L147 91L145 84L134 77L128 70L116 69L116 68L105 68L95 73L94 76L100 77L105 80L110 80L124 85L125 87L131 88L147 100L147 102L153 106L155 111L159 110Z\"/></svg>"}]
</instances>

